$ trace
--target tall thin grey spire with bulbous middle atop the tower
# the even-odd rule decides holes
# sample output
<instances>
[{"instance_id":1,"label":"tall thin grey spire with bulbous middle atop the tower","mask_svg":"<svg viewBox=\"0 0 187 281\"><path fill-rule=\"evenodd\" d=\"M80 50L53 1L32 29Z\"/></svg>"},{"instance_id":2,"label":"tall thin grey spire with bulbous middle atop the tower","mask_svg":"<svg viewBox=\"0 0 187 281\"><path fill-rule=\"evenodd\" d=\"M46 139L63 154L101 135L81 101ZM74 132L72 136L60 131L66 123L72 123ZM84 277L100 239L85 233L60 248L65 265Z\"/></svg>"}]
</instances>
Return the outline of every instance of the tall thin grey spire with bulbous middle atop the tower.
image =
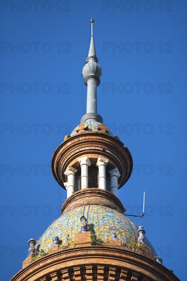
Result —
<instances>
[{"instance_id":1,"label":"tall thin grey spire with bulbous middle atop the tower","mask_svg":"<svg viewBox=\"0 0 187 281\"><path fill-rule=\"evenodd\" d=\"M100 76L102 74L101 67L97 63L98 59L95 51L95 44L93 38L93 23L91 19L91 41L86 64L83 67L83 76L85 78L85 85L87 86L87 113L82 117L81 123L86 121L103 123L102 117L97 114L97 86L100 84Z\"/></svg>"}]
</instances>

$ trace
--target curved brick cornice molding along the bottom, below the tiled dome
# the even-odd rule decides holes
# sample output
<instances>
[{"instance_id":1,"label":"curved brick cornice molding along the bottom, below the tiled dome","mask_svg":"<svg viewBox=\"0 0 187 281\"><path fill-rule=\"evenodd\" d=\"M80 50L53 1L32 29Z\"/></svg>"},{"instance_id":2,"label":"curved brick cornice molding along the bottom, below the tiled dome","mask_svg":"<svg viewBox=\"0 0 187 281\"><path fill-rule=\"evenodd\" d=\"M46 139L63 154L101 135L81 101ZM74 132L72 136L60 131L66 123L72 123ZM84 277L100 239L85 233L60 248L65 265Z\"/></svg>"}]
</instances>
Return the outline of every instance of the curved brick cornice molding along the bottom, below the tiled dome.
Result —
<instances>
[{"instance_id":1,"label":"curved brick cornice molding along the bottom, below the tiled dome","mask_svg":"<svg viewBox=\"0 0 187 281\"><path fill-rule=\"evenodd\" d=\"M57 276L60 276L58 275L59 272L65 270L68 272L67 269L77 269L77 267L85 269L88 265L109 269L111 264L112 268L116 268L118 271L128 271L131 276L138 273L141 278L155 281L179 281L166 267L142 254L124 250L122 247L103 245L76 247L51 253L20 270L11 281L36 281L45 276L48 277L54 272L57 272ZM63 279L60 278L60 280ZM70 280L72 280L72 277Z\"/></svg>"}]
</instances>

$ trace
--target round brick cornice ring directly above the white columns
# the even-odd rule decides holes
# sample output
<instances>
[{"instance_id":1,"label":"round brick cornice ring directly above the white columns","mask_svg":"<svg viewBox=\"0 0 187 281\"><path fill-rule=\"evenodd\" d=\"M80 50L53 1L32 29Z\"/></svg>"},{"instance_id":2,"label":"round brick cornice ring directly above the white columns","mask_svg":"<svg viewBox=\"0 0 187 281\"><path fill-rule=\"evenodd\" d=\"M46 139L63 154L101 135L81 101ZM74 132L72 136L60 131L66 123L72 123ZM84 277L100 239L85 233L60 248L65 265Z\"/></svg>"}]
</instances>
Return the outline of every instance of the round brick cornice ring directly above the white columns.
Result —
<instances>
[{"instance_id":1,"label":"round brick cornice ring directly above the white columns","mask_svg":"<svg viewBox=\"0 0 187 281\"><path fill-rule=\"evenodd\" d=\"M118 168L121 174L119 188L130 177L132 157L124 144L117 137L105 133L85 131L66 138L52 156L52 173L63 188L63 183L66 182L65 170L69 165L73 165L73 168L80 168L77 159L85 155L93 163L98 157L108 158L109 169Z\"/></svg>"}]
</instances>

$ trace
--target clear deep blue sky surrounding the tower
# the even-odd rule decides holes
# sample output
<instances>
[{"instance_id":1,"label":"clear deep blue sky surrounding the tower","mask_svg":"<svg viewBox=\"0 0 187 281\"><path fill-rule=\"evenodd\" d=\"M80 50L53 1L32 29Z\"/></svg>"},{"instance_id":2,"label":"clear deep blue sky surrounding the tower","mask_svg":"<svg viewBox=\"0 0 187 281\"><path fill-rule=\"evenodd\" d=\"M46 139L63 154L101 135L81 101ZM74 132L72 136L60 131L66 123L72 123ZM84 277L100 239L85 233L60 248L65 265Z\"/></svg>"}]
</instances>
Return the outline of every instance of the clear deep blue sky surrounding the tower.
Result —
<instances>
[{"instance_id":1,"label":"clear deep blue sky surrounding the tower","mask_svg":"<svg viewBox=\"0 0 187 281\"><path fill-rule=\"evenodd\" d=\"M186 2L1 5L1 281L21 269L28 240L59 217L66 199L50 160L86 110L92 14L98 113L134 163L119 197L137 215L146 192L146 216L133 221L186 281Z\"/></svg>"}]
</instances>

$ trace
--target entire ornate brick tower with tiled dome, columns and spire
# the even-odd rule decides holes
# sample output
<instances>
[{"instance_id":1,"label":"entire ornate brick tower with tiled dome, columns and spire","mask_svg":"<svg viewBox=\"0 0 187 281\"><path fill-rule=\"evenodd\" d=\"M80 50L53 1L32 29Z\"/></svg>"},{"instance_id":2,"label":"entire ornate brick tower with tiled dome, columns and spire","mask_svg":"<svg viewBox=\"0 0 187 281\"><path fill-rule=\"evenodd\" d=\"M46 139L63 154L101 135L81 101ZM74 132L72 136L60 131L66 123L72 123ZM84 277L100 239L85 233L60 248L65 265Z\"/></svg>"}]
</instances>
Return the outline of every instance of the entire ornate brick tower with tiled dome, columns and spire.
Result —
<instances>
[{"instance_id":1,"label":"entire ornate brick tower with tiled dome, columns and spire","mask_svg":"<svg viewBox=\"0 0 187 281\"><path fill-rule=\"evenodd\" d=\"M62 215L42 237L28 241L29 256L13 280L178 280L162 265L145 236L125 216L118 190L129 179L132 157L97 113L101 67L93 39L83 76L87 112L52 156L55 179L67 191Z\"/></svg>"}]
</instances>

